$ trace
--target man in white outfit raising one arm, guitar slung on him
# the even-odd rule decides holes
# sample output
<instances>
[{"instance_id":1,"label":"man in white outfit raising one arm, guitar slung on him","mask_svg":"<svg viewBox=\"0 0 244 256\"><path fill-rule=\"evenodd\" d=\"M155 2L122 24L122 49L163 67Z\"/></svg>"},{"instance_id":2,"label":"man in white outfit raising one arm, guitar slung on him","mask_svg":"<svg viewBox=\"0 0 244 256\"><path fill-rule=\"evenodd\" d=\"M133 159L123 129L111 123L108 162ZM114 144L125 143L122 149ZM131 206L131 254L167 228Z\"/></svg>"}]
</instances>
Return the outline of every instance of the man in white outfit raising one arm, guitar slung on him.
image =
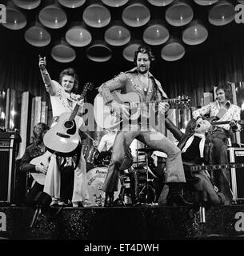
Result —
<instances>
[{"instance_id":1,"label":"man in white outfit raising one arm, guitar slung on him","mask_svg":"<svg viewBox=\"0 0 244 256\"><path fill-rule=\"evenodd\" d=\"M46 70L46 57L39 59L39 67L42 74L43 82L46 86L46 91L50 94L50 101L53 110L53 123L58 122L58 117L62 113L71 113L74 106L78 103L80 96L74 94L74 91L78 90L78 76L74 69L69 68L63 70L59 75L59 83L51 80L50 75ZM82 114L82 102L79 102L80 109L78 115ZM77 124L81 127L84 124L82 117ZM50 194L53 197L51 205L57 204L60 199L60 170L58 166L62 161L66 161L66 166L71 166L74 169L75 162L72 157L70 158L57 158L55 155L51 158L50 167L47 171L46 183L44 186L44 192ZM89 199L86 182L86 161L83 154L80 155L77 168L74 170L74 192L72 197L72 203L74 207L82 206L83 202Z\"/></svg>"}]
</instances>

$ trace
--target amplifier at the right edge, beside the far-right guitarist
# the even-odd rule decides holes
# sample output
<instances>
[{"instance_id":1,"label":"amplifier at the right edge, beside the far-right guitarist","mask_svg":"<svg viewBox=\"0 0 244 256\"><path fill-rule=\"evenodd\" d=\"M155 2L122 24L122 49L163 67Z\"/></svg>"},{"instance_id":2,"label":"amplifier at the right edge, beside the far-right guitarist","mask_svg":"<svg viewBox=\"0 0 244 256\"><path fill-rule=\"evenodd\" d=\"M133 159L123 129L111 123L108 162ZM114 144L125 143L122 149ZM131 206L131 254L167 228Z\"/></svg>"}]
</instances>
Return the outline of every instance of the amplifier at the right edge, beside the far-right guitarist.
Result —
<instances>
[{"instance_id":1,"label":"amplifier at the right edge, beside the far-right guitarist","mask_svg":"<svg viewBox=\"0 0 244 256\"><path fill-rule=\"evenodd\" d=\"M230 162L244 163L244 148L228 148ZM234 201L244 200L244 167L230 169L231 189L234 195Z\"/></svg>"}]
</instances>

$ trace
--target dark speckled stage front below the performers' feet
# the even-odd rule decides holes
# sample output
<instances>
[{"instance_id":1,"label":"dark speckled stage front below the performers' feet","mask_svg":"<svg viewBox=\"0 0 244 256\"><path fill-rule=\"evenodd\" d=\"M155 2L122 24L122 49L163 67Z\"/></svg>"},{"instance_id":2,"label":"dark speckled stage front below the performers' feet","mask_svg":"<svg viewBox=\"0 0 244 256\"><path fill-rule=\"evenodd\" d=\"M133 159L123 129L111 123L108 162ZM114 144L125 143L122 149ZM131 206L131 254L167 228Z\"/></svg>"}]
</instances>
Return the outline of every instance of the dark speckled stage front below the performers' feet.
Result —
<instances>
[{"instance_id":1,"label":"dark speckled stage front below the performers' feet","mask_svg":"<svg viewBox=\"0 0 244 256\"><path fill-rule=\"evenodd\" d=\"M206 211L206 223L187 207L51 207L30 229L34 209L0 207L0 238L80 240L242 239L244 205ZM6 230L4 230L4 215ZM2 226L1 226L2 224Z\"/></svg>"}]
</instances>

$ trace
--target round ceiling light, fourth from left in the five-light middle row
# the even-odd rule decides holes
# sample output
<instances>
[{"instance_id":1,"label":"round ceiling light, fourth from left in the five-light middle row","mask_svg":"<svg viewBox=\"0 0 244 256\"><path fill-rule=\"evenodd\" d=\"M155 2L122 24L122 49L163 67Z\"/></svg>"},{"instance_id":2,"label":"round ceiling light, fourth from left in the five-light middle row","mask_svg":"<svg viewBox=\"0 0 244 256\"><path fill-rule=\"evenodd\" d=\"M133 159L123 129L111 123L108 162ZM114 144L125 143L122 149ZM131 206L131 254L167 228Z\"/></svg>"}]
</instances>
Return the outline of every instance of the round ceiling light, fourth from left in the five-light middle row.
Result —
<instances>
[{"instance_id":1,"label":"round ceiling light, fourth from left in the five-light middle row","mask_svg":"<svg viewBox=\"0 0 244 256\"><path fill-rule=\"evenodd\" d=\"M143 40L151 46L158 46L170 38L169 30L161 24L148 26L143 33Z\"/></svg>"}]
</instances>

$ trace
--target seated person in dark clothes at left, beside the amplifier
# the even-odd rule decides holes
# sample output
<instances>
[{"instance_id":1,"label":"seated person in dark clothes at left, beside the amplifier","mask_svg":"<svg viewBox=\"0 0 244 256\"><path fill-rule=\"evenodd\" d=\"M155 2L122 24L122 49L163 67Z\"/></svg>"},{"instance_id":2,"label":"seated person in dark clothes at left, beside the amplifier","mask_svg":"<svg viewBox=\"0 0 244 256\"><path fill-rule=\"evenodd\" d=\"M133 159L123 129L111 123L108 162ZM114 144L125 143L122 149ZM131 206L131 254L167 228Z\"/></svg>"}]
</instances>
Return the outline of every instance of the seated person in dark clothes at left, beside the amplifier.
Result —
<instances>
[{"instance_id":1,"label":"seated person in dark clothes at left, beside the amplifier","mask_svg":"<svg viewBox=\"0 0 244 256\"><path fill-rule=\"evenodd\" d=\"M19 169L22 172L40 173L46 175L46 166L43 166L41 163L34 165L31 164L30 161L46 152L46 146L43 144L43 136L47 130L49 130L49 126L47 126L44 122L39 122L36 126L34 126L34 141L30 146L26 147L25 154L23 155L20 162ZM34 198L39 192L43 191L43 187L44 186L39 184L38 182L34 182L33 186L31 186L29 193L27 194L25 200L26 206L31 206L34 203Z\"/></svg>"}]
</instances>

